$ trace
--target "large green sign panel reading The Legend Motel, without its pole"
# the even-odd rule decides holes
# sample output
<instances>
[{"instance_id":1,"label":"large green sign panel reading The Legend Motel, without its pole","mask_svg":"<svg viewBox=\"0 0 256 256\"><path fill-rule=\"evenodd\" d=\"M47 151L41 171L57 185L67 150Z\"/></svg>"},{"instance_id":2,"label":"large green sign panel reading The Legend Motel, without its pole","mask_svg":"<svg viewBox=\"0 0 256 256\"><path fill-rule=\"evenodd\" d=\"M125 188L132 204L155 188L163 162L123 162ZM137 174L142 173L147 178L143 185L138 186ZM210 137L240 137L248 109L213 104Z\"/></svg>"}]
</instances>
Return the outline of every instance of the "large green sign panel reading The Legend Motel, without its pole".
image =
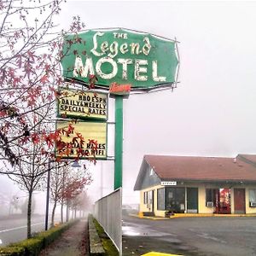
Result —
<instances>
[{"instance_id":1,"label":"large green sign panel reading The Legend Motel, without its pole","mask_svg":"<svg viewBox=\"0 0 256 256\"><path fill-rule=\"evenodd\" d=\"M106 89L112 83L131 90L177 82L177 42L126 29L90 30L64 38L63 76Z\"/></svg>"}]
</instances>

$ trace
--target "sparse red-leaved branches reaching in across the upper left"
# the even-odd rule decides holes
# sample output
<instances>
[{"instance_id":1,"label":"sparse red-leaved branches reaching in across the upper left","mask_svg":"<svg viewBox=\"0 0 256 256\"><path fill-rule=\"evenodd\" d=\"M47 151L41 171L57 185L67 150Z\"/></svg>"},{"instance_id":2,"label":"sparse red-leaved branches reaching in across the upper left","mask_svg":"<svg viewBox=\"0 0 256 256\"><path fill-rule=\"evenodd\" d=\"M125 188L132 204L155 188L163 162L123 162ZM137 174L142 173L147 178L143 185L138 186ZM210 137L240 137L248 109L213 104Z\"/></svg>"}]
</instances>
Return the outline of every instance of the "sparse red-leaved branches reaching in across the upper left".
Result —
<instances>
[{"instance_id":1,"label":"sparse red-leaved branches reaching in across the upper left","mask_svg":"<svg viewBox=\"0 0 256 256\"><path fill-rule=\"evenodd\" d=\"M62 2L0 0L0 154L11 166L26 154L26 150L18 154L20 143L26 149L31 142L45 141L42 147L49 152L55 144L65 148L59 131L45 129L38 133L42 119L29 122L30 113L41 108L44 117L52 114L54 119L55 97L63 85L63 38L84 27L79 17L73 17L67 31L55 26Z\"/></svg>"}]
</instances>

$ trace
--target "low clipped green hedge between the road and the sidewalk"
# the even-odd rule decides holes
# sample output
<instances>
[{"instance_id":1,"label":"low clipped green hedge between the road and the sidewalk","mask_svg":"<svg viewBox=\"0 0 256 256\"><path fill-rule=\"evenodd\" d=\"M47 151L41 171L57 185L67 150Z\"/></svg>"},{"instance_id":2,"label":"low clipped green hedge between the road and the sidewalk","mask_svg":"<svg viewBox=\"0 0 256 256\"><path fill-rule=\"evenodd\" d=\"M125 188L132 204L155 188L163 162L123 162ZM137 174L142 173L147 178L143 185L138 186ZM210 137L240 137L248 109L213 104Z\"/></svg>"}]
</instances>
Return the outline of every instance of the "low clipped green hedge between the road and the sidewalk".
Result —
<instances>
[{"instance_id":1,"label":"low clipped green hedge between the road and the sidewalk","mask_svg":"<svg viewBox=\"0 0 256 256\"><path fill-rule=\"evenodd\" d=\"M38 256L45 247L49 246L52 241L61 236L61 233L79 220L68 222L60 226L51 228L47 231L38 233L38 235L10 244L8 247L0 247L0 255L8 256Z\"/></svg>"}]
</instances>

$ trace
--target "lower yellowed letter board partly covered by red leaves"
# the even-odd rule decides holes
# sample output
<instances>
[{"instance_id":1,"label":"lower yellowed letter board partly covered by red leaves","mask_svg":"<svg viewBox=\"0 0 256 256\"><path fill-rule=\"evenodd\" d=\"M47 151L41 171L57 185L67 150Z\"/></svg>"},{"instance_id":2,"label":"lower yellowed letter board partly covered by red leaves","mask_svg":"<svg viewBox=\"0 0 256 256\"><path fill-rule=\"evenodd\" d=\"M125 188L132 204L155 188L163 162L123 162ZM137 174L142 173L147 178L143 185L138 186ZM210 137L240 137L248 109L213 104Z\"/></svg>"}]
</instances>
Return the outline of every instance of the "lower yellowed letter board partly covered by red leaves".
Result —
<instances>
[{"instance_id":1,"label":"lower yellowed letter board partly covered by red leaves","mask_svg":"<svg viewBox=\"0 0 256 256\"><path fill-rule=\"evenodd\" d=\"M69 122L67 121L57 121L56 129L66 128ZM81 159L87 158L85 155L91 157L90 140L95 140L97 142L96 149L96 159L106 159L107 158L107 123L96 123L96 122L82 122L73 124L74 132L69 137L63 135L62 140L66 143L71 143L73 137L80 133L84 137L84 146L80 147L79 143L72 143L72 148L70 148L70 154L61 155L61 152L56 152L56 156L61 156L63 158L77 158L79 151L82 150L84 156Z\"/></svg>"}]
</instances>

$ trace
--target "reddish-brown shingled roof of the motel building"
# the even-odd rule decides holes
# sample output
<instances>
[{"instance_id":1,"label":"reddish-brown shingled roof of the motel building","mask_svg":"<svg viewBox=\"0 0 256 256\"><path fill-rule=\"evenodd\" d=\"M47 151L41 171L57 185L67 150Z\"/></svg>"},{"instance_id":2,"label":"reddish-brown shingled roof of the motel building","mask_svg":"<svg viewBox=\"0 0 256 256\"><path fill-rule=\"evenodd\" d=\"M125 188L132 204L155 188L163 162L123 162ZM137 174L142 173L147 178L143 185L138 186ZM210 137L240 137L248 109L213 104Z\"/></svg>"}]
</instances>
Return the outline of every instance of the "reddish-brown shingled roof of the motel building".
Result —
<instances>
[{"instance_id":1,"label":"reddish-brown shingled roof of the motel building","mask_svg":"<svg viewBox=\"0 0 256 256\"><path fill-rule=\"evenodd\" d=\"M256 167L239 158L145 155L144 159L161 180L256 182Z\"/></svg>"}]
</instances>

